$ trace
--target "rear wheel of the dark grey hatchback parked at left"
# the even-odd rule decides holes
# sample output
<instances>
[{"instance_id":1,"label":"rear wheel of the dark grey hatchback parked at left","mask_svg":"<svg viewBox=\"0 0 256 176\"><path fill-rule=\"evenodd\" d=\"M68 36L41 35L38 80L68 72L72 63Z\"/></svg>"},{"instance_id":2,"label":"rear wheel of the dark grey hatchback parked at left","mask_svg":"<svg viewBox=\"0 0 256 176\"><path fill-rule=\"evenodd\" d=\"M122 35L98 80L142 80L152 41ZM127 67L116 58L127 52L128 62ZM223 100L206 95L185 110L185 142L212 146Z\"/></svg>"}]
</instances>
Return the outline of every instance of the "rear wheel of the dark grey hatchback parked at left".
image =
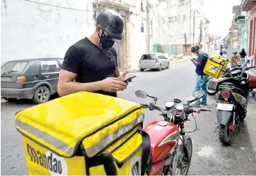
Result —
<instances>
[{"instance_id":1,"label":"rear wheel of the dark grey hatchback parked at left","mask_svg":"<svg viewBox=\"0 0 256 176\"><path fill-rule=\"evenodd\" d=\"M41 86L36 89L34 94L34 103L45 103L50 99L50 90L46 86Z\"/></svg>"}]
</instances>

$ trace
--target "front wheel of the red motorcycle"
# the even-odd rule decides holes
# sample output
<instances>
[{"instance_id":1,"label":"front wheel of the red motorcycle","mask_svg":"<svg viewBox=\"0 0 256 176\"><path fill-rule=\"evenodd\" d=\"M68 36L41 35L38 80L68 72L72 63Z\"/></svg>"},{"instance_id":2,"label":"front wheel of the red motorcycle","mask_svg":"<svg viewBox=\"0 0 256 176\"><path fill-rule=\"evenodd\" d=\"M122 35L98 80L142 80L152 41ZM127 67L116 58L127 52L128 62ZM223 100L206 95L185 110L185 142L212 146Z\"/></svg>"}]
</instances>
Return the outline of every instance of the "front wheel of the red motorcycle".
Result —
<instances>
[{"instance_id":1,"label":"front wheel of the red motorcycle","mask_svg":"<svg viewBox=\"0 0 256 176\"><path fill-rule=\"evenodd\" d=\"M179 153L179 159L177 160L177 168L172 169L170 167L170 169L172 170L169 170L167 175L187 175L187 172L190 169L190 163L193 152L193 143L190 137L187 138L186 148L187 152L185 152L184 150L186 149L184 149Z\"/></svg>"}]
</instances>

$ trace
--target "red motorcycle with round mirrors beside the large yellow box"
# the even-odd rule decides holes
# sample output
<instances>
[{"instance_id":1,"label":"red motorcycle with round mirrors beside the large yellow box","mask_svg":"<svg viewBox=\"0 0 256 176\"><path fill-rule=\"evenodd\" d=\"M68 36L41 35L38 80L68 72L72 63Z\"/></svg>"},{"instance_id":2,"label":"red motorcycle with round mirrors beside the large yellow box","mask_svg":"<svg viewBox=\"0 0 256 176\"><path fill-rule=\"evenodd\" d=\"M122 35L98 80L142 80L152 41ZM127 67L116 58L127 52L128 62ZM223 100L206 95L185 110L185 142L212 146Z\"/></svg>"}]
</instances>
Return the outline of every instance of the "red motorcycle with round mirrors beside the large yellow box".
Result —
<instances>
[{"instance_id":1,"label":"red motorcycle with round mirrors beside the large yellow box","mask_svg":"<svg viewBox=\"0 0 256 176\"><path fill-rule=\"evenodd\" d=\"M185 121L190 121L188 116L193 112L210 111L206 109L192 108L198 98L205 95L203 90L193 92L195 99L183 104L181 100L174 99L165 104L166 108L158 106L157 97L147 95L146 92L137 90L136 97L151 97L154 103L141 104L150 111L160 111L164 120L152 121L144 131L150 135L151 153L147 163L147 175L187 175L192 156L192 140L189 132L185 131ZM193 116L194 117L194 116ZM195 120L195 118L194 118ZM197 129L195 121L195 130ZM195 132L193 130L193 132Z\"/></svg>"}]
</instances>

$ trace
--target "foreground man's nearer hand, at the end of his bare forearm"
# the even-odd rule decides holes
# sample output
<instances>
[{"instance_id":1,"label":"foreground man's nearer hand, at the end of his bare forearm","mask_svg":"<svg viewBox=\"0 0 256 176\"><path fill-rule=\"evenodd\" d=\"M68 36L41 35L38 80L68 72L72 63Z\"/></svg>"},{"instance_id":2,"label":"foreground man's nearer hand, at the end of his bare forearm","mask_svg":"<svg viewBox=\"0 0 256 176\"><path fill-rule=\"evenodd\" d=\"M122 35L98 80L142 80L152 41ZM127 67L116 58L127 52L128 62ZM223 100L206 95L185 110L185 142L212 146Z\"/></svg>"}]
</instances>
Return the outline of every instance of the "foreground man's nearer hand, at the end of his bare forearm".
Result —
<instances>
[{"instance_id":1,"label":"foreground man's nearer hand, at the end of his bare forearm","mask_svg":"<svg viewBox=\"0 0 256 176\"><path fill-rule=\"evenodd\" d=\"M117 78L106 78L100 81L101 90L104 92L117 92L126 89L124 81L119 81Z\"/></svg>"}]
</instances>

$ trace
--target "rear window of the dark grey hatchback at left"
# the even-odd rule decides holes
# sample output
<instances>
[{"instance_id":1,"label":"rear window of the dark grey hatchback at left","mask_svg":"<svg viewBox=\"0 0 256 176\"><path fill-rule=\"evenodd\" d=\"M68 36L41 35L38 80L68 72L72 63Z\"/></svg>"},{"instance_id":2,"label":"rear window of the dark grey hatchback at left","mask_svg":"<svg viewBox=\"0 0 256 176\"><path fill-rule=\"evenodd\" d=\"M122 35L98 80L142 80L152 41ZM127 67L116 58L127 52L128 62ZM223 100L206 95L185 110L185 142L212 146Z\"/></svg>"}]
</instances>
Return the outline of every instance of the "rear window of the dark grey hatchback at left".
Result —
<instances>
[{"instance_id":1,"label":"rear window of the dark grey hatchback at left","mask_svg":"<svg viewBox=\"0 0 256 176\"><path fill-rule=\"evenodd\" d=\"M26 61L14 61L4 64L1 67L1 74L11 73L11 72L22 72L26 67L28 62Z\"/></svg>"}]
</instances>

